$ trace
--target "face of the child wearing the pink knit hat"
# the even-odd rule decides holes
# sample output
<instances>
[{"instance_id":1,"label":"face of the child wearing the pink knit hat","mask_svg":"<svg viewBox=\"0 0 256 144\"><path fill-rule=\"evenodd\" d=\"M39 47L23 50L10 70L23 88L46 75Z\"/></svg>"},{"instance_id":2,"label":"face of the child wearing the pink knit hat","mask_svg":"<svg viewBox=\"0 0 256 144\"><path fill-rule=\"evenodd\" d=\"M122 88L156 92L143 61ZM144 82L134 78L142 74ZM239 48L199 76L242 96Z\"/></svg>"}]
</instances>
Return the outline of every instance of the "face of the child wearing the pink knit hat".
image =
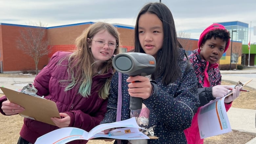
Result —
<instances>
[{"instance_id":1,"label":"face of the child wearing the pink knit hat","mask_svg":"<svg viewBox=\"0 0 256 144\"><path fill-rule=\"evenodd\" d=\"M224 50L225 50L226 42L222 39L216 37L212 37L205 41L204 44L200 47L200 56L210 62L211 64L215 64L218 60L221 59Z\"/></svg>"}]
</instances>

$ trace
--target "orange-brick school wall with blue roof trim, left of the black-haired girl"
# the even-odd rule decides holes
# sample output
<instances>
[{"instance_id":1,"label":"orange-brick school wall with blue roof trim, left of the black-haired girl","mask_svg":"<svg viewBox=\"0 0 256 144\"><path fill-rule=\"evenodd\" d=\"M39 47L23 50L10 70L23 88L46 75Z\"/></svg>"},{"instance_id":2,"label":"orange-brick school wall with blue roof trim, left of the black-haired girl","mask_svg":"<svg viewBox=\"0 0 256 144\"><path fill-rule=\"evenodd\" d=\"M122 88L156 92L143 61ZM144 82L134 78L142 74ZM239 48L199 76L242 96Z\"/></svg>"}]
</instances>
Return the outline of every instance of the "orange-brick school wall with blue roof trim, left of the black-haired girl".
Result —
<instances>
[{"instance_id":1,"label":"orange-brick school wall with blue roof trim, left of the black-haired girl","mask_svg":"<svg viewBox=\"0 0 256 144\"><path fill-rule=\"evenodd\" d=\"M51 47L48 55L40 58L38 70L48 64L49 59L56 51L72 51L75 49L75 39L82 31L94 22L85 22L71 25L43 28L46 31L47 40ZM120 33L121 51L133 49L134 27L128 25L113 24ZM17 39L21 37L21 31L26 29L38 29L35 26L15 25L0 23L0 73L15 73L35 70L35 63L26 51L17 49ZM42 27L40 27L42 28Z\"/></svg>"}]
</instances>

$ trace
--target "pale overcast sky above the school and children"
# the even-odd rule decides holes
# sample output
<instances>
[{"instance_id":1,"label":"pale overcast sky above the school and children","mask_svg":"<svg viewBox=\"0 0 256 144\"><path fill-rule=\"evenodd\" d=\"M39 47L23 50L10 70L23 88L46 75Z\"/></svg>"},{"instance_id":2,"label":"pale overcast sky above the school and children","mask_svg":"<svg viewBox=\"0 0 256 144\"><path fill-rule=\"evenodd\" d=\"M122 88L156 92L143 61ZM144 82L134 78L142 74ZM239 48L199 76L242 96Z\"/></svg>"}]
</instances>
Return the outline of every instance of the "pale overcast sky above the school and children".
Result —
<instances>
[{"instance_id":1,"label":"pale overcast sky above the school and children","mask_svg":"<svg viewBox=\"0 0 256 144\"><path fill-rule=\"evenodd\" d=\"M0 23L42 22L53 27L104 21L134 26L139 10L148 2L159 0L0 0ZM171 10L177 31L189 32L190 38L199 39L201 32L214 22L241 21L249 25L248 41L256 43L256 0L161 2Z\"/></svg>"}]
</instances>

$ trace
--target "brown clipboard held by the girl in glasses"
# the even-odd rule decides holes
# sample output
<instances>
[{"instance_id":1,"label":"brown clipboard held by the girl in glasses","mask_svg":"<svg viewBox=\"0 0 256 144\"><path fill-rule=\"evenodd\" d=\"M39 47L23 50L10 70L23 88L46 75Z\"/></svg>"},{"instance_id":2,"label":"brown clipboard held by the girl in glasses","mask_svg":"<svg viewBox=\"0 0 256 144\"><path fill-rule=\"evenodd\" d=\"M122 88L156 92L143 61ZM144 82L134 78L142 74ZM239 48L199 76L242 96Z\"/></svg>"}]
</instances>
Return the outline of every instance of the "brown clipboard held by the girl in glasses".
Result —
<instances>
[{"instance_id":1,"label":"brown clipboard held by the girl in glasses","mask_svg":"<svg viewBox=\"0 0 256 144\"><path fill-rule=\"evenodd\" d=\"M4 87L0 87L0 89L10 102L18 104L25 109L19 113L19 115L23 117L54 126L56 125L51 120L51 117L61 118L56 103L51 100L40 96L17 92Z\"/></svg>"}]
</instances>

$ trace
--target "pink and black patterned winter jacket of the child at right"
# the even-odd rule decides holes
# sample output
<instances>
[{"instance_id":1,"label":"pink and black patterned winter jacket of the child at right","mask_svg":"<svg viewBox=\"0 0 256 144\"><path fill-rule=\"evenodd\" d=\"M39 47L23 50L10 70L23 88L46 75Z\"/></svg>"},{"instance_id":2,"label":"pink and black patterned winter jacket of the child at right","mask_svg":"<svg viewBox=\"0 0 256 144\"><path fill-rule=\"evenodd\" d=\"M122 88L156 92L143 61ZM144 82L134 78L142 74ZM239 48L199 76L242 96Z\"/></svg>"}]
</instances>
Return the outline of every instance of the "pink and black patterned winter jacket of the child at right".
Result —
<instances>
[{"instance_id":1,"label":"pink and black patterned winter jacket of the child at right","mask_svg":"<svg viewBox=\"0 0 256 144\"><path fill-rule=\"evenodd\" d=\"M218 64L209 64L208 61L201 59L199 55L199 49L192 51L188 56L191 66L194 68L198 80L198 88L206 89L221 84L221 74L218 68ZM207 93L205 91L199 90L200 105L203 106L210 100L215 99L212 96L212 89L209 88L211 92ZM207 90L206 90L207 91ZM203 100L203 101L201 101ZM226 111L231 107L232 102L229 104L225 103ZM199 107L198 109L200 109ZM198 128L198 112L194 115L191 123L191 127L184 130L184 134L187 139L188 144L203 144L203 139L200 138L199 128Z\"/></svg>"}]
</instances>

